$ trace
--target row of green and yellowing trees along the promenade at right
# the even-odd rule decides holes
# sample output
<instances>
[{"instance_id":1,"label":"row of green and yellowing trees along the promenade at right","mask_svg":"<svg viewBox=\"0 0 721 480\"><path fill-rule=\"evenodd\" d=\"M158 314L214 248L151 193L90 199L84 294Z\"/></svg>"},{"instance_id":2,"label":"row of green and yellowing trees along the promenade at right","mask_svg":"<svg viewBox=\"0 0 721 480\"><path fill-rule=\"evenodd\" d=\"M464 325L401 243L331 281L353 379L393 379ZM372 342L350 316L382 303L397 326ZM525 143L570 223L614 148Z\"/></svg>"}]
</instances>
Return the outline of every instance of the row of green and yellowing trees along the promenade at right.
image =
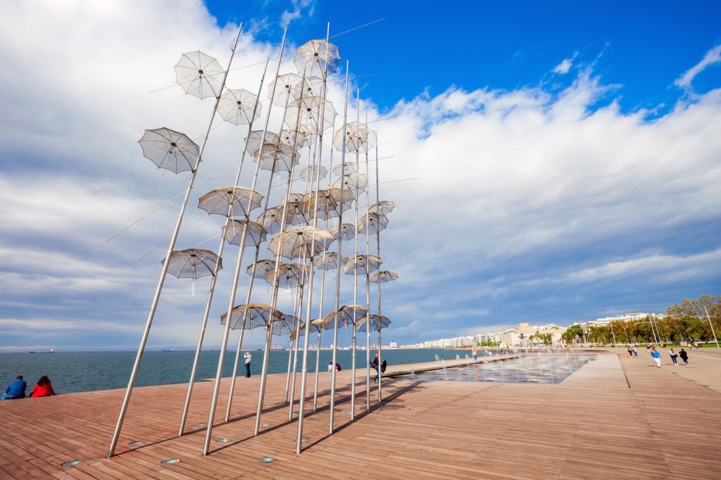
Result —
<instances>
[{"instance_id":1,"label":"row of green and yellowing trees along the promenade at right","mask_svg":"<svg viewBox=\"0 0 721 480\"><path fill-rule=\"evenodd\" d=\"M713 324L713 330L709 319ZM677 305L666 308L663 318L647 316L638 321L611 321L608 325L585 328L570 326L563 339L567 343L588 341L598 344L615 343L671 343L713 342L715 332L721 333L721 295L702 295L699 298L684 298Z\"/></svg>"}]
</instances>

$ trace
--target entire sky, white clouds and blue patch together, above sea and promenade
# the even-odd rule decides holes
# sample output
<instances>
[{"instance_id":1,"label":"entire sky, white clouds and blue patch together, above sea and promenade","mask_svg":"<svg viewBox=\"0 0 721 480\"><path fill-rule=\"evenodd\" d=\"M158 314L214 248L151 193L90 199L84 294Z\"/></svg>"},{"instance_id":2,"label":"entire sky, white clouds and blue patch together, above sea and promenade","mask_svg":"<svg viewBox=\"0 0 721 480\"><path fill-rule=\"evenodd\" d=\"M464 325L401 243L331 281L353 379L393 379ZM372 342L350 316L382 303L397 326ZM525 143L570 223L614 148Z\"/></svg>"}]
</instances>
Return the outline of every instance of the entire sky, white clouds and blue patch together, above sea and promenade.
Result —
<instances>
[{"instance_id":1,"label":"entire sky, white clouds and blue patch together, above sea and promenade","mask_svg":"<svg viewBox=\"0 0 721 480\"><path fill-rule=\"evenodd\" d=\"M386 18L334 41L352 74L383 73L355 79L363 112L392 117L373 123L389 157L381 197L397 203L383 234L384 268L400 275L384 285L389 339L660 312L721 293L718 2L459 2L442 14L420 2L350 10L310 0L8 9L0 352L136 348L164 250L140 257L167 237L179 205L106 239L187 185L187 174L155 171L136 142L160 126L203 133L212 102L173 86L172 66L198 49L224 64L240 20L234 68L277 55L285 25L292 55L328 21L340 32ZM235 69L229 85L255 92L261 74ZM329 98L342 112L340 73ZM278 128L279 113L271 119ZM221 172L243 135L213 128L199 173L213 179L194 190L177 248L217 249L207 240L218 219L195 203L232 182ZM224 254L209 348L235 255ZM207 287L198 280L193 296L169 278L150 348L193 347ZM267 288L256 293L267 302Z\"/></svg>"}]
</instances>

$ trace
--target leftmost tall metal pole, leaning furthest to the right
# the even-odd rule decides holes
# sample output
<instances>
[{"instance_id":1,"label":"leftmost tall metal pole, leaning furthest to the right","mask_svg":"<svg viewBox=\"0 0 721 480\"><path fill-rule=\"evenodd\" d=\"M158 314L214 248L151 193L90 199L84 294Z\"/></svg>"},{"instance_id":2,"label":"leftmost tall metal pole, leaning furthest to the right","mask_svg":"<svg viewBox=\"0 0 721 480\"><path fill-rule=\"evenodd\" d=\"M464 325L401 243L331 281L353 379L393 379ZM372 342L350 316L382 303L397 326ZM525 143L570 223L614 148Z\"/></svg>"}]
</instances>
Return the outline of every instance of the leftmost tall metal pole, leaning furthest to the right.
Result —
<instances>
[{"instance_id":1,"label":"leftmost tall metal pole, leaning furthest to the right","mask_svg":"<svg viewBox=\"0 0 721 480\"><path fill-rule=\"evenodd\" d=\"M205 136L203 137L203 143L200 145L200 150L198 151L198 158L195 159L195 166L193 166L193 172L190 174L190 181L187 184L187 190L185 190L185 198L183 198L182 206L180 207L180 213L178 214L178 219L175 223L175 228L173 230L173 234L170 237L170 243L168 245L168 250L165 254L165 260L163 262L163 267L160 272L160 278L158 280L158 286L155 290L155 295L153 296L153 301L150 306L150 313L148 314L148 320L146 321L145 329L143 330L143 337L141 338L140 346L138 347L138 354L136 355L135 363L133 363L133 370L131 371L131 378L128 381L128 388L125 390L125 397L123 398L123 406L120 407L120 414L118 415L118 422L115 424L115 431L112 433L112 440L110 440L110 448L107 450L107 458L112 457L113 454L115 454L115 446L118 445L118 437L120 437L120 429L123 427L123 420L125 419L125 412L128 410L128 403L131 399L131 394L133 393L133 386L135 386L136 376L138 375L138 368L140 368L140 362L143 358L143 352L145 351L145 345L146 342L148 342L148 336L150 334L150 328L153 324L153 319L155 318L155 311L158 307L158 301L160 300L160 293L163 290L163 283L165 281L165 275L168 272L169 267L169 258L170 255L173 252L173 249L175 248L175 241L177 241L178 234L180 233L180 225L182 224L182 218L185 215L185 208L187 207L187 200L190 198L190 192L193 190L193 183L195 182L195 176L198 174L198 166L200 166L200 159L203 157L203 151L205 151L205 144L208 142L208 136L211 134L211 127L213 126L213 119L216 116L216 111L218 110L218 103L221 100L221 94L223 93L223 89L225 88L226 79L228 78L228 72L230 71L230 66L233 61L233 57L235 55L235 50L238 47L238 40L240 39L240 33L243 31L243 24L241 23L238 27L238 35L235 37L235 43L233 45L233 50L231 50L230 59L228 61L228 68L226 68L226 71L223 75L223 81L221 83L220 91L218 92L218 95L216 96L216 104L213 106L213 113L211 113L211 120L208 122L208 128L205 130Z\"/></svg>"}]
</instances>

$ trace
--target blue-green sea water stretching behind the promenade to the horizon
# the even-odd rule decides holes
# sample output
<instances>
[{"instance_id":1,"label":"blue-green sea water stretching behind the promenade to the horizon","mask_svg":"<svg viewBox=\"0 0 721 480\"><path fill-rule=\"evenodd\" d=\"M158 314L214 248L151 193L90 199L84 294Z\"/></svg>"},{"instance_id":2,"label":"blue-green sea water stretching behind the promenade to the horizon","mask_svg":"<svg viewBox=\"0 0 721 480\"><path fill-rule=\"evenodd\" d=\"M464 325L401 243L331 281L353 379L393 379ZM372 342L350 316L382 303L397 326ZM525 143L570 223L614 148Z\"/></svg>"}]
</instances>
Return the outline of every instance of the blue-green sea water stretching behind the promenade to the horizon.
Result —
<instances>
[{"instance_id":1,"label":"blue-green sea water stretching behind the promenade to the horizon","mask_svg":"<svg viewBox=\"0 0 721 480\"><path fill-rule=\"evenodd\" d=\"M371 350L371 352L373 352ZM252 351L251 373L260 374L262 352ZM435 355L445 359L455 359L456 355L465 357L467 352L460 350L414 349L384 350L383 357L389 365L403 363L432 362ZM482 355L479 351L479 355ZM187 383L190 368L193 366L193 351L145 352L141 362L136 386L167 385L169 383ZM214 378L218 368L218 350L209 350L200 355L198 380ZM288 351L270 352L269 373L286 372ZM350 368L348 350L337 353L338 363L345 370ZM375 352L372 353L375 355ZM27 394L32 391L37 379L48 375L57 394L69 394L77 391L107 390L125 388L128 385L135 360L135 352L56 352L56 353L2 353L0 354L0 383L2 390L17 375L23 375L27 381ZM298 363L302 361L302 352L298 354ZM316 352L309 352L309 371L315 371ZM320 369L326 371L332 360L332 352L322 350ZM224 376L231 376L235 352L226 354ZM241 363L243 362L241 356ZM366 352L356 352L356 367L366 365ZM298 370L300 368L298 367ZM245 375L244 365L239 365L239 375Z\"/></svg>"}]
</instances>

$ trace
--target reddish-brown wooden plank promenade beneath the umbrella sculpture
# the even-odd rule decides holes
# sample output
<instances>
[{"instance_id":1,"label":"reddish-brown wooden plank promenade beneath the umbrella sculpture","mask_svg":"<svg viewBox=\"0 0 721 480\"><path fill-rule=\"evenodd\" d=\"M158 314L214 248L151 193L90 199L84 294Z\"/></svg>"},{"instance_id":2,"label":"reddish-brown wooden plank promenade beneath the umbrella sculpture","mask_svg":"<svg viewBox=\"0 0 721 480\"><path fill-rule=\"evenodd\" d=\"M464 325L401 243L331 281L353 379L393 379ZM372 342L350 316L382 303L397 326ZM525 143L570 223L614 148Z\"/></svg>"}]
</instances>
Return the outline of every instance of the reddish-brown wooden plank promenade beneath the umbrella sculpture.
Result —
<instances>
[{"instance_id":1,"label":"reddish-brown wooden plank promenade beneath the umbrella sculpture","mask_svg":"<svg viewBox=\"0 0 721 480\"><path fill-rule=\"evenodd\" d=\"M423 365L415 365L422 368ZM407 369L401 365L396 369ZM389 370L389 371L392 371ZM122 390L0 402L0 477L58 479L476 478L717 479L721 476L721 354L694 350L688 366L663 351L655 368L645 350L598 352L560 384L388 379L384 402L365 406L358 372L349 422L350 372L339 373L337 430L327 435L329 373L319 409L308 410L305 451L294 453L297 424L283 402L286 375L270 375L254 437L259 378L239 378L231 421L213 429L203 457L213 383L195 387L188 434L176 437L185 385L136 388L118 443L105 458ZM362 376L361 376L362 375ZM312 378L312 377L311 377ZM224 379L216 423L225 412ZM310 407L306 401L306 406ZM141 441L132 447L128 443ZM273 457L273 463L260 463ZM160 462L177 458L179 463ZM66 468L61 463L81 460Z\"/></svg>"}]
</instances>

